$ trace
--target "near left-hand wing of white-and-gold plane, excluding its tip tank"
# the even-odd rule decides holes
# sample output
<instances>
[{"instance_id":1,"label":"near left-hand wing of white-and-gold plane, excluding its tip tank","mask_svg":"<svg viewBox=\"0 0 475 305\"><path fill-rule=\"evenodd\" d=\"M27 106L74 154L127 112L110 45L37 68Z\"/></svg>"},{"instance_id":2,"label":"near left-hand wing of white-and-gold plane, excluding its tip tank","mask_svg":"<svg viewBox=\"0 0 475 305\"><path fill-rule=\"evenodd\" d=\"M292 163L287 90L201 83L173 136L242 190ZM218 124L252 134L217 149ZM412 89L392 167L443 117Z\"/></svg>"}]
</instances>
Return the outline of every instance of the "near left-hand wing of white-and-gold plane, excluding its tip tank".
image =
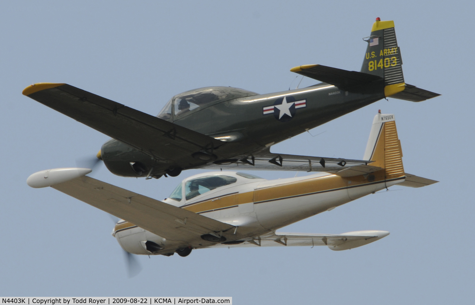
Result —
<instances>
[{"instance_id":1,"label":"near left-hand wing of white-and-gold plane, excluding its tip tank","mask_svg":"<svg viewBox=\"0 0 475 305\"><path fill-rule=\"evenodd\" d=\"M230 229L235 228L87 176L51 187L171 241L199 240L203 245L212 245L200 236L227 230L232 234L234 231Z\"/></svg>"}]
</instances>

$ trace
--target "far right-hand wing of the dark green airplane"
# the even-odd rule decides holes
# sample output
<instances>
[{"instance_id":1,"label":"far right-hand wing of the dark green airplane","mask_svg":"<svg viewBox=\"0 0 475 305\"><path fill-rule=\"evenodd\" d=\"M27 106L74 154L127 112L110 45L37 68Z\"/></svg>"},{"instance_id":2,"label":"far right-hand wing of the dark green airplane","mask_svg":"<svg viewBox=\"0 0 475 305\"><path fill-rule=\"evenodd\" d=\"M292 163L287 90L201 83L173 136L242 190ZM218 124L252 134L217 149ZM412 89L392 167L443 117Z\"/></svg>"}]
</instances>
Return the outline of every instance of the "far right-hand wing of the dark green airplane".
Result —
<instances>
[{"instance_id":1,"label":"far right-hand wing of the dark green airplane","mask_svg":"<svg viewBox=\"0 0 475 305\"><path fill-rule=\"evenodd\" d=\"M231 171L296 171L296 172L332 172L342 177L352 177L369 172L376 172L380 167L370 166L372 161L342 158L325 158L279 154L266 152L239 160L228 160L228 163L208 163L196 168L226 169ZM340 174L339 174L340 172ZM343 176L344 175L344 176Z\"/></svg>"}]
</instances>

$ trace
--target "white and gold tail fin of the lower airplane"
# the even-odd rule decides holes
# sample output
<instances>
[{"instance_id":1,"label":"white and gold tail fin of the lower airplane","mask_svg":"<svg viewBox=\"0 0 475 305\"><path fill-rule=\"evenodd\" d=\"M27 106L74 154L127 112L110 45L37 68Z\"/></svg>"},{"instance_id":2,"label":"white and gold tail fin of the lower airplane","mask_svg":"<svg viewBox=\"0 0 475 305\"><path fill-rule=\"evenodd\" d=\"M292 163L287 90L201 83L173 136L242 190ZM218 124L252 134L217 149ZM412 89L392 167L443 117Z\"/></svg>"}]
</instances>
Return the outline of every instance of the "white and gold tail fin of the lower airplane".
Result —
<instances>
[{"instance_id":1,"label":"white and gold tail fin of the lower airplane","mask_svg":"<svg viewBox=\"0 0 475 305\"><path fill-rule=\"evenodd\" d=\"M401 142L398 138L394 114L381 114L379 111L374 116L363 160L372 160L374 162L370 165L383 168L386 179L404 175Z\"/></svg>"}]
</instances>

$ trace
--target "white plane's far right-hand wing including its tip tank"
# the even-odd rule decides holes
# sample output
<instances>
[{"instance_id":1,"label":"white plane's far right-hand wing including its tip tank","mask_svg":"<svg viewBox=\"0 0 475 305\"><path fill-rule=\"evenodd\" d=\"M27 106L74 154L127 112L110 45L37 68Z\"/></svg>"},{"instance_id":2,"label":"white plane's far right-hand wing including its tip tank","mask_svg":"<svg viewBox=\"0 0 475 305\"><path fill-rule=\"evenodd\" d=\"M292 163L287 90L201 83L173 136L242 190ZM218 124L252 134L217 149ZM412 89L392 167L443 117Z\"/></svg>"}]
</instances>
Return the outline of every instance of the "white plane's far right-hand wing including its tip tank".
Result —
<instances>
[{"instance_id":1,"label":"white plane's far right-hand wing including its tip tank","mask_svg":"<svg viewBox=\"0 0 475 305\"><path fill-rule=\"evenodd\" d=\"M239 230L239 229L237 229ZM279 233L275 235L237 240L213 245L210 248L237 248L237 247L290 247L290 246L328 246L332 250L346 250L369 244L388 236L388 231L354 231L343 234L306 234L306 233Z\"/></svg>"}]
</instances>

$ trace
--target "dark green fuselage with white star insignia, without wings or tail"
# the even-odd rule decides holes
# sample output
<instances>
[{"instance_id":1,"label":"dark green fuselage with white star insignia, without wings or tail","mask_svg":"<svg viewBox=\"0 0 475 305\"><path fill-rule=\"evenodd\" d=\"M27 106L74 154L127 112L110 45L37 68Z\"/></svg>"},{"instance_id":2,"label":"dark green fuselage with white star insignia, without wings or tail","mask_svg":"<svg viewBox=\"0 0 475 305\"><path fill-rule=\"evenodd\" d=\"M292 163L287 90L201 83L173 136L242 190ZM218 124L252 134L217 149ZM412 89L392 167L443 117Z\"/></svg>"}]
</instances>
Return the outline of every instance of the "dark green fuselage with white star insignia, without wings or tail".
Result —
<instances>
[{"instance_id":1,"label":"dark green fuselage with white star insignia, without wings or tail","mask_svg":"<svg viewBox=\"0 0 475 305\"><path fill-rule=\"evenodd\" d=\"M212 92L216 91L239 92L248 96L212 101L180 114L176 104L181 101L181 96L203 93L213 96ZM383 94L350 93L324 83L265 95L231 87L207 87L192 90L191 94L185 92L176 95L158 117L224 142L239 143L239 153L242 156L236 158L239 154L234 154L226 158L228 160L234 157L239 160L252 154L258 155L275 143L382 98ZM146 153L131 149L114 139L102 146L101 155L107 168L122 176L143 176L147 174L148 169L157 167L155 161ZM129 165L130 162L140 162L145 169L134 170Z\"/></svg>"}]
</instances>

